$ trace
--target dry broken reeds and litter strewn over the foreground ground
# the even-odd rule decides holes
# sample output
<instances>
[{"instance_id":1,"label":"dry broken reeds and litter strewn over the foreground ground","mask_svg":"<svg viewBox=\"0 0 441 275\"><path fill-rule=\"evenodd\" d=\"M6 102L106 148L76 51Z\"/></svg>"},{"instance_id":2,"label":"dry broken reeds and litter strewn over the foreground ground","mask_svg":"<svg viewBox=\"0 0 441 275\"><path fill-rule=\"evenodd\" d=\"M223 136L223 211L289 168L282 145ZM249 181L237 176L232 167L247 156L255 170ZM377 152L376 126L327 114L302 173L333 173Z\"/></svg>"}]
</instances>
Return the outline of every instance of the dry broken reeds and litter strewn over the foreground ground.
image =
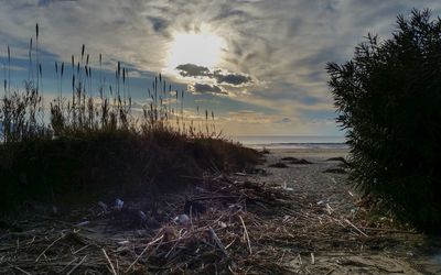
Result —
<instances>
[{"instance_id":1,"label":"dry broken reeds and litter strewn over the foreground ground","mask_svg":"<svg viewBox=\"0 0 441 275\"><path fill-rule=\"evenodd\" d=\"M87 217L87 220L83 218L82 223L74 222L74 229L68 232L66 224L69 223L63 221L42 223L43 227L36 230L25 229L20 232L20 241L15 233L0 235L3 238L0 249L9 253L4 258L13 258L8 264L26 272L29 255L36 251L40 261L34 264L35 273L50 270L54 273L71 271L83 274L90 270L101 274L112 274L114 271L117 274L123 271L144 274L149 268L154 273L182 270L187 274L214 274L216 271L230 271L234 274L266 274L265 271L292 274L300 271L302 274L308 270L309 274L320 274L326 270L323 270L324 260L318 261L315 257L319 251L334 251L337 246L358 251L359 245L367 248L372 241L384 240L381 235L388 232L381 228L370 228L363 220L363 215L356 215L353 219L347 216L346 220L338 212L342 208L337 198L333 197L332 200L334 211L325 194L320 195L322 200L302 194L300 179L293 194L287 190L292 179L282 184L262 184L234 182L226 175L216 175L217 179L214 178L207 179L211 184L204 186L204 194L191 188L192 199L184 193L173 194L158 205L130 200L119 204L123 206L119 212L79 216ZM344 195L348 197L346 190ZM211 210L193 219L195 212L192 204L190 215L181 213L184 201L203 201L204 205L201 205L209 206ZM176 213L181 215L173 219ZM94 222L93 218L99 220ZM139 228L139 220L146 223L143 228ZM83 228L89 221L94 227ZM150 224L153 222L159 230L152 230ZM121 227L121 223L125 226ZM106 229L100 229L100 224ZM117 230L111 228L112 224ZM79 230L75 228L77 226L83 227ZM61 232L62 238L53 232ZM287 249L286 244L293 249ZM298 254L298 251L305 249L308 253ZM37 257L37 254L34 256ZM47 266L46 258L51 260L53 267ZM290 264L294 263L295 266ZM157 263L161 263L161 266ZM331 267L326 268L329 271ZM1 274L8 274L9 271L10 267L0 264Z\"/></svg>"}]
</instances>

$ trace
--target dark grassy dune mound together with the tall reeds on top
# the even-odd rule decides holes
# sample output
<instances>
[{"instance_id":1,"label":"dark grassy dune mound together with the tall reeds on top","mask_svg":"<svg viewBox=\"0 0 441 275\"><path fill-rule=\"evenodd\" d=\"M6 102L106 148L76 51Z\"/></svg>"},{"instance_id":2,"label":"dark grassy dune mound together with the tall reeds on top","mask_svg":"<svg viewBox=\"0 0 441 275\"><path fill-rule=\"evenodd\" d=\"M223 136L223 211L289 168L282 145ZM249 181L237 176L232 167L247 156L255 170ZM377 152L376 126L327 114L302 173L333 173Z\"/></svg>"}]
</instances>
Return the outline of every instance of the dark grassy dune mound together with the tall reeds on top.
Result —
<instances>
[{"instance_id":1,"label":"dark grassy dune mound together with the tall reeds on top","mask_svg":"<svg viewBox=\"0 0 441 275\"><path fill-rule=\"evenodd\" d=\"M256 151L222 138L213 111L202 111L198 122L185 118L186 91L173 89L161 75L147 89L137 114L128 69L118 62L114 85L106 87L99 55L99 74L94 76L100 85L93 90L95 68L83 45L80 56L72 56L71 76L65 75L68 65L55 63L56 97L49 102L32 40L29 56L29 79L21 89L11 90L9 63L0 103L1 209L29 199L154 196L176 190L204 172L243 170L258 161ZM63 85L67 79L69 92Z\"/></svg>"}]
</instances>

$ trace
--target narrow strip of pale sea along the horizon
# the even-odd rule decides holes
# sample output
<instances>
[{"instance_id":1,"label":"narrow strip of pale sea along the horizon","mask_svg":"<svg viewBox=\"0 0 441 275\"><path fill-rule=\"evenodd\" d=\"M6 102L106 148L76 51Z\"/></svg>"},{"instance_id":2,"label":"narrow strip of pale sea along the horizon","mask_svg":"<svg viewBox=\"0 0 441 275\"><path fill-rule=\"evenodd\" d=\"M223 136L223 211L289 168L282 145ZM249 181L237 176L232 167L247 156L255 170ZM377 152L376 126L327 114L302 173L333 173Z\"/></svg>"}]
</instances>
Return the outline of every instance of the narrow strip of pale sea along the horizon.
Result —
<instances>
[{"instance_id":1,"label":"narrow strip of pale sea along the horizon","mask_svg":"<svg viewBox=\"0 0 441 275\"><path fill-rule=\"evenodd\" d=\"M237 135L232 140L252 148L348 148L345 138L336 135Z\"/></svg>"}]
</instances>

